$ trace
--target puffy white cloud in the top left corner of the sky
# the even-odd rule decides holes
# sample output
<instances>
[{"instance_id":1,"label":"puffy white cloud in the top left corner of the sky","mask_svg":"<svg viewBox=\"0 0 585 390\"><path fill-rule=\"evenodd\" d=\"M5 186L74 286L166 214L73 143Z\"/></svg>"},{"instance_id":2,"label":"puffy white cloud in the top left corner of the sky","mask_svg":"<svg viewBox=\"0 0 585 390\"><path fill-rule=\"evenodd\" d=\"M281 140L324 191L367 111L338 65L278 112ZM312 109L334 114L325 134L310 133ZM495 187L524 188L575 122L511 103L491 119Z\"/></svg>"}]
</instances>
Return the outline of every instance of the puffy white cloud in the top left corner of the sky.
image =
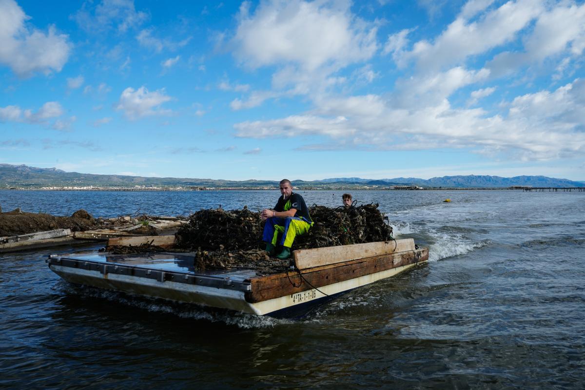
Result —
<instances>
[{"instance_id":1,"label":"puffy white cloud in the top left corner of the sky","mask_svg":"<svg viewBox=\"0 0 585 390\"><path fill-rule=\"evenodd\" d=\"M25 25L28 19L15 1L0 2L0 63L19 77L60 72L71 50L68 36L57 33L55 26L47 33L30 29Z\"/></svg>"}]
</instances>

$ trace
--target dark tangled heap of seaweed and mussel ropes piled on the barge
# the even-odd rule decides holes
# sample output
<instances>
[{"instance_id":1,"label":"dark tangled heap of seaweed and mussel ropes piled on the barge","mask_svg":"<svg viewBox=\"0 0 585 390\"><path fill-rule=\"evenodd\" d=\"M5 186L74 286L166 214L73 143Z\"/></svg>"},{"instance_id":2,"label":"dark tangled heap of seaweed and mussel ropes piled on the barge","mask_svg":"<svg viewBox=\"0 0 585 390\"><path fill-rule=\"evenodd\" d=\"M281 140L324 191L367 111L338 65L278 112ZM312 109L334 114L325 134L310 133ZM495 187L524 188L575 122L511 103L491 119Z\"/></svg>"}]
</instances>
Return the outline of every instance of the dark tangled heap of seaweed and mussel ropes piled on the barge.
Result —
<instances>
[{"instance_id":1,"label":"dark tangled heap of seaweed and mussel ropes piled on the barge","mask_svg":"<svg viewBox=\"0 0 585 390\"><path fill-rule=\"evenodd\" d=\"M377 203L352 208L312 205L309 212L315 224L307 234L295 238L293 250L387 241L392 236L388 218ZM242 210L205 209L190 216L189 223L177 232L177 242L181 249L194 251L200 270L285 270L287 261L270 258L263 251L263 230L260 213L246 206Z\"/></svg>"}]
</instances>

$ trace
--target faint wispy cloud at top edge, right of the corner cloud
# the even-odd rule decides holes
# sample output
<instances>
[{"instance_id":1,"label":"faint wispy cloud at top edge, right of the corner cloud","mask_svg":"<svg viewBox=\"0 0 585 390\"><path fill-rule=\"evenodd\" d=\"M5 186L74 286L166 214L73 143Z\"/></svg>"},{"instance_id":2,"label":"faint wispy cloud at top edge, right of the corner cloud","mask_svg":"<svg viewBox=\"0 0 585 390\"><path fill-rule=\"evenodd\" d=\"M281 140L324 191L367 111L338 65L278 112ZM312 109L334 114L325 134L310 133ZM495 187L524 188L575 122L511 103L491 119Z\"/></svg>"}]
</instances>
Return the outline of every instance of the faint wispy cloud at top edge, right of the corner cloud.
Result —
<instances>
[{"instance_id":1,"label":"faint wispy cloud at top edge, right of the corner cloud","mask_svg":"<svg viewBox=\"0 0 585 390\"><path fill-rule=\"evenodd\" d=\"M149 18L146 12L136 11L133 0L103 0L93 10L92 5L93 2L85 2L75 15L71 15L71 19L87 32L116 29L123 33Z\"/></svg>"}]
</instances>

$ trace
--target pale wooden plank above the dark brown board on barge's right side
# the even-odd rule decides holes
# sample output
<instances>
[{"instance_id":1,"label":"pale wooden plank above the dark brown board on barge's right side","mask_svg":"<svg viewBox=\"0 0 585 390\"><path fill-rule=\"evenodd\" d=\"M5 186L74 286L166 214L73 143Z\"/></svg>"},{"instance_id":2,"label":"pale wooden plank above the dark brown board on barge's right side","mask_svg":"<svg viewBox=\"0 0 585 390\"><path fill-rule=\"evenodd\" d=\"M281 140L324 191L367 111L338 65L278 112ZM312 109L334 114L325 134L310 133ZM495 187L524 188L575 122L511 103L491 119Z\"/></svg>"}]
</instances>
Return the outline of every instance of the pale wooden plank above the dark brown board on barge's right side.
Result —
<instances>
[{"instance_id":1,"label":"pale wooden plank above the dark brown board on barge's right side","mask_svg":"<svg viewBox=\"0 0 585 390\"><path fill-rule=\"evenodd\" d=\"M300 249L292 252L295 264L300 270L319 265L343 263L359 258L382 256L414 250L413 239L380 241L376 243L340 245L314 249Z\"/></svg>"}]
</instances>

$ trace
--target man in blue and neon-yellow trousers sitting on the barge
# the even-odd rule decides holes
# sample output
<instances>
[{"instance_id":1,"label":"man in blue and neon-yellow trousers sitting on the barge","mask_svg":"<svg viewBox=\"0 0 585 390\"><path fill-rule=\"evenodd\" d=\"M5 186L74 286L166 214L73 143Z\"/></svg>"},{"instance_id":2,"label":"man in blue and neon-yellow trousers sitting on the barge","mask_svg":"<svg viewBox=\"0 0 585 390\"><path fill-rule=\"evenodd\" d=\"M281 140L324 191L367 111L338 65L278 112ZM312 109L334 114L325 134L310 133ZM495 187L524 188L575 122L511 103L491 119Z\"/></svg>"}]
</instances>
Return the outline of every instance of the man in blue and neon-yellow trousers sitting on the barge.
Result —
<instances>
[{"instance_id":1,"label":"man in blue and neon-yellow trousers sitting on the barge","mask_svg":"<svg viewBox=\"0 0 585 390\"><path fill-rule=\"evenodd\" d=\"M266 242L266 251L272 256L276 249L278 233L282 233L280 245L283 251L277 258L285 259L290 257L292 241L297 236L307 233L313 226L309 215L309 209L301 195L292 192L290 180L280 181L280 193L278 202L274 209L262 210L261 216L266 219L262 240Z\"/></svg>"}]
</instances>

